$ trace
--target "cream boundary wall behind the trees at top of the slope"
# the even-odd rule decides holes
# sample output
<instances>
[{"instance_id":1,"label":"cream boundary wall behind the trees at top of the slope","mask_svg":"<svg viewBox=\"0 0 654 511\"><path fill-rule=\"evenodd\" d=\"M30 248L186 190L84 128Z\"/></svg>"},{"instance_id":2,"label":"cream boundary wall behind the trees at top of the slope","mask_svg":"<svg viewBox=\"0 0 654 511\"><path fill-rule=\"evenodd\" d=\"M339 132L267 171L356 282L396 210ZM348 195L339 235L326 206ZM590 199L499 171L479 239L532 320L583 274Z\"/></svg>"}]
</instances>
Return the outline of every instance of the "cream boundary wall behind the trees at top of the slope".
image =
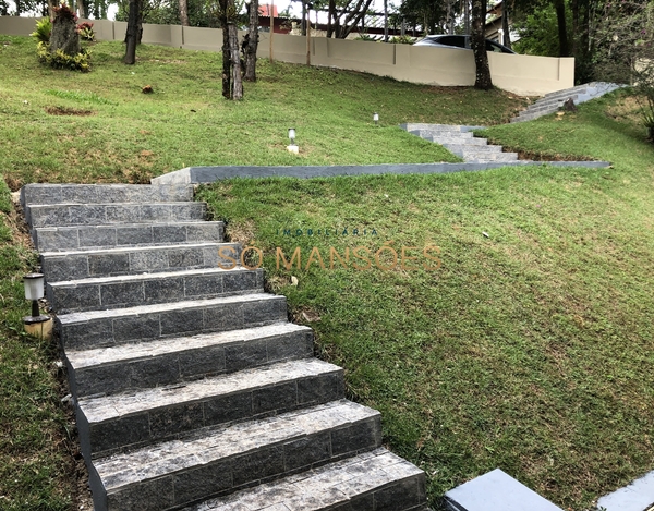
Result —
<instances>
[{"instance_id":1,"label":"cream boundary wall behind the trees at top of the slope","mask_svg":"<svg viewBox=\"0 0 654 511\"><path fill-rule=\"evenodd\" d=\"M99 40L123 40L126 23L92 20ZM36 19L0 16L0 34L29 35ZM270 34L259 33L258 57L269 58ZM274 35L275 60L306 63L306 38ZM220 51L219 28L180 25L143 26L143 42L189 50ZM378 76L426 85L474 85L471 50L415 47L383 42L312 37L313 65L363 71ZM488 53L493 83L521 96L542 96L574 85L574 59Z\"/></svg>"}]
</instances>

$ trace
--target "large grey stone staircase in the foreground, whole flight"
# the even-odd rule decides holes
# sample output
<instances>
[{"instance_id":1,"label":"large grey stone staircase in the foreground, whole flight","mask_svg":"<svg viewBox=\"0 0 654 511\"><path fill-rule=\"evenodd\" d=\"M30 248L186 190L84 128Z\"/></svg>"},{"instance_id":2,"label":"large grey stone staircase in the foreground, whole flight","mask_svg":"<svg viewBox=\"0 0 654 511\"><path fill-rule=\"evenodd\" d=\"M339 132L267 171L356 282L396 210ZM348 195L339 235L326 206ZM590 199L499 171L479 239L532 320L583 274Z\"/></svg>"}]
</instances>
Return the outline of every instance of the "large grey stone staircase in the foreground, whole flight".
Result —
<instances>
[{"instance_id":1,"label":"large grey stone staircase in the foreground, whole flight","mask_svg":"<svg viewBox=\"0 0 654 511\"><path fill-rule=\"evenodd\" d=\"M379 413L344 399L262 270L218 267L239 247L192 198L21 191L96 511L425 511L425 475L382 448Z\"/></svg>"}]
</instances>

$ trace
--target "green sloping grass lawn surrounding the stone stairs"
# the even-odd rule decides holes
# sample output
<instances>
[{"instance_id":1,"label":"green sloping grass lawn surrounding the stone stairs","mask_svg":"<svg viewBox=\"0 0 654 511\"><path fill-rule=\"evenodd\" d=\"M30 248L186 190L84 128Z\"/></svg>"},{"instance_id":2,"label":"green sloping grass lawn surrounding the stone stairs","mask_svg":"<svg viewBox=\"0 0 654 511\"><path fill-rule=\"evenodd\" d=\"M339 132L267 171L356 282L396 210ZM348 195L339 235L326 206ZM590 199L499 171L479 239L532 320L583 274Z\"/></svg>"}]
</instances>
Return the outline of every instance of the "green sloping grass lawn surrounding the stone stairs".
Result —
<instances>
[{"instance_id":1,"label":"green sloping grass lawn surrounding the stone stairs","mask_svg":"<svg viewBox=\"0 0 654 511\"><path fill-rule=\"evenodd\" d=\"M395 125L498 124L524 104L266 61L232 104L219 96L214 53L144 47L128 68L121 45L98 44L94 71L76 74L38 66L33 46L0 37L0 165L13 190L146 182L191 165L452 161ZM316 330L319 355L346 368L350 397L383 413L385 443L427 472L435 506L500 466L581 511L654 469L654 148L633 112L615 94L562 119L488 130L512 149L610 169L237 179L199 198L233 240L264 251L268 287ZM291 125L298 157L284 151ZM28 311L20 276L34 259L2 232L0 370L13 376L0 380L0 508L72 509L56 354L19 333ZM400 256L416 247L404 266L419 268L379 269L393 263L388 250L375 263L383 245ZM277 269L278 246L287 258L300 246L302 268ZM356 246L370 269L353 268L366 264L352 255L329 269L330 247L344 258ZM313 247L325 269L316 252L306 267Z\"/></svg>"}]
</instances>

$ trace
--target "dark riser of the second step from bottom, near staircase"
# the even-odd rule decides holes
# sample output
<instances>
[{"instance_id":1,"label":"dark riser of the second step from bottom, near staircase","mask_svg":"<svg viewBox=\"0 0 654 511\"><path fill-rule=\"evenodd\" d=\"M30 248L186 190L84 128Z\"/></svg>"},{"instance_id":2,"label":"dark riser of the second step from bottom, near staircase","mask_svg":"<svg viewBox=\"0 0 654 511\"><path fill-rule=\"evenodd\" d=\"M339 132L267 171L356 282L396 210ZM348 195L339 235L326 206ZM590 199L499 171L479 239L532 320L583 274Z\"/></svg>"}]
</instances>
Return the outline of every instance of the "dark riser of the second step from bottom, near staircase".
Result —
<instances>
[{"instance_id":1,"label":"dark riser of the second step from bottom, near staircase","mask_svg":"<svg viewBox=\"0 0 654 511\"><path fill-rule=\"evenodd\" d=\"M271 434L270 437L275 438L276 435ZM377 414L342 423L338 427L284 434L279 440L266 441L261 446L255 440L252 448L245 447L247 440L244 439L244 448L235 454L205 452L189 459L182 451L171 453L175 459L166 463L170 472L162 475L157 467L133 475L124 472L104 475L101 469L98 469L104 487L108 489L104 495L98 495L96 511L177 509L254 483L275 480L284 474L298 473L376 449L380 442Z\"/></svg>"}]
</instances>

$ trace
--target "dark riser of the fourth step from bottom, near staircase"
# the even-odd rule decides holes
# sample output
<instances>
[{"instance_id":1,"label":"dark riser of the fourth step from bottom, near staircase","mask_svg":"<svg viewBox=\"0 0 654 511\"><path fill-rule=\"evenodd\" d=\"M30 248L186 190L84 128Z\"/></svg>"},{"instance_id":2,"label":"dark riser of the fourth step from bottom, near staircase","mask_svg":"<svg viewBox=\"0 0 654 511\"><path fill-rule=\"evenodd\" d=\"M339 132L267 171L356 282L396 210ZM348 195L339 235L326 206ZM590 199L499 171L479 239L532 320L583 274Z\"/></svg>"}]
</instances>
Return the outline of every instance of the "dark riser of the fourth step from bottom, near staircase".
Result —
<instances>
[{"instance_id":1,"label":"dark riser of the fourth step from bottom, near staircase","mask_svg":"<svg viewBox=\"0 0 654 511\"><path fill-rule=\"evenodd\" d=\"M149 353L142 351L131 358L104 364L84 364L84 353L69 353L66 367L71 391L77 399L99 393L109 396L313 355L313 331L308 329L267 337L265 333L259 337L242 337L231 342L220 342L219 334L214 338L214 343L197 343L193 338L174 338L168 341L174 343L174 351L157 353L153 346ZM119 348L113 349L118 350Z\"/></svg>"}]
</instances>

